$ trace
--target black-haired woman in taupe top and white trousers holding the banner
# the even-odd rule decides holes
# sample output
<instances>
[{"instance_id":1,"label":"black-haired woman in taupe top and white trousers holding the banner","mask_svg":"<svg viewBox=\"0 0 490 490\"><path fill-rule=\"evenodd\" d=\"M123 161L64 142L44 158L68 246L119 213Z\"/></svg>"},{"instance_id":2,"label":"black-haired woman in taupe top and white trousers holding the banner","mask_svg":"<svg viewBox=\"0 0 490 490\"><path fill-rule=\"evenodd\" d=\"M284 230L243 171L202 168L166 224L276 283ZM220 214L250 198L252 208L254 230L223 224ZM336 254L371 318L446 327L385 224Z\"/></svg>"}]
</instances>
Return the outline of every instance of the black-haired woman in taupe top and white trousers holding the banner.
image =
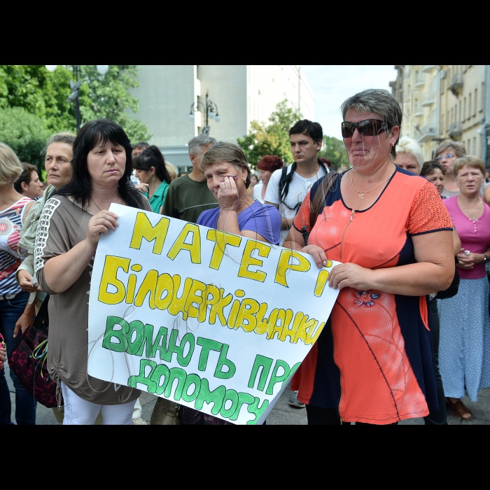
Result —
<instances>
[{"instance_id":1,"label":"black-haired woman in taupe top and white trousers holding the banner","mask_svg":"<svg viewBox=\"0 0 490 490\"><path fill-rule=\"evenodd\" d=\"M64 424L91 425L102 409L105 425L130 425L139 390L87 373L88 302L94 253L101 233L115 231L112 202L151 211L130 184L132 146L122 127L99 119L73 143L73 177L46 202L34 251L35 279L51 295L48 372L55 379Z\"/></svg>"}]
</instances>

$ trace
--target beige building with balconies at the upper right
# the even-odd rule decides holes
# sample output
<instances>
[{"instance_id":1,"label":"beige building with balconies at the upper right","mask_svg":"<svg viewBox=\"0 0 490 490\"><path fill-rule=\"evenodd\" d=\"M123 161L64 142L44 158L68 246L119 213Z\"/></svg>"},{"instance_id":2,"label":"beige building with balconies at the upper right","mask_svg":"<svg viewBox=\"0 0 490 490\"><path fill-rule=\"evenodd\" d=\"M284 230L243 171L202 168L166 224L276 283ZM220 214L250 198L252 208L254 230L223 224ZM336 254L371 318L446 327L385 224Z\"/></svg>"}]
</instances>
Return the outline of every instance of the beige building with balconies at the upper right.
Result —
<instances>
[{"instance_id":1,"label":"beige building with balconies at the upper right","mask_svg":"<svg viewBox=\"0 0 490 490\"><path fill-rule=\"evenodd\" d=\"M402 136L419 141L424 160L444 139L486 158L486 65L395 65L393 95L403 109Z\"/></svg>"}]
</instances>

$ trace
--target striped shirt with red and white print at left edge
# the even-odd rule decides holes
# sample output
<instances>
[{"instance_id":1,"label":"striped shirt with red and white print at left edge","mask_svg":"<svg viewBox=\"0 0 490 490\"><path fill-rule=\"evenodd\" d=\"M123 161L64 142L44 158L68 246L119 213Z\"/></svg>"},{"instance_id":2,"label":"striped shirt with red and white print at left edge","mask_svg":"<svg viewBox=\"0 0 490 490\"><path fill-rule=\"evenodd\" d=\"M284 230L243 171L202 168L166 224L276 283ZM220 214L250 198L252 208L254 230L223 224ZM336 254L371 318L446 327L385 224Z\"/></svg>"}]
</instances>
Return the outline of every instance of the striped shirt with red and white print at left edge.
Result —
<instances>
[{"instance_id":1,"label":"striped shirt with red and white print at left edge","mask_svg":"<svg viewBox=\"0 0 490 490\"><path fill-rule=\"evenodd\" d=\"M29 202L29 197L22 197L9 208L0 211L0 295L22 293L15 281L15 271L22 262L17 244L25 207Z\"/></svg>"}]
</instances>

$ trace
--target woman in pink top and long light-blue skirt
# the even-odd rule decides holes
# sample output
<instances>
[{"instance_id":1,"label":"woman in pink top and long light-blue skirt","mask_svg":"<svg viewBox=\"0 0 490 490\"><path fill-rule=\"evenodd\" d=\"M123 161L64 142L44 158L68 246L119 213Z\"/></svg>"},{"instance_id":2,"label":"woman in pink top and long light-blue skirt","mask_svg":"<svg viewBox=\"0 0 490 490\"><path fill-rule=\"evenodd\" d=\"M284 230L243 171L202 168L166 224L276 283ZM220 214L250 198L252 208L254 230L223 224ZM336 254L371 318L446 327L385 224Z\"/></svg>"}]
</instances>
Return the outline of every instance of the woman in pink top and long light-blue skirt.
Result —
<instances>
[{"instance_id":1,"label":"woman in pink top and long light-blue skirt","mask_svg":"<svg viewBox=\"0 0 490 490\"><path fill-rule=\"evenodd\" d=\"M461 419L471 419L461 398L465 388L472 402L490 386L489 282L485 263L490 258L490 207L479 195L485 165L465 155L454 162L458 196L444 200L461 238L458 294L440 300L439 367L446 400Z\"/></svg>"}]
</instances>

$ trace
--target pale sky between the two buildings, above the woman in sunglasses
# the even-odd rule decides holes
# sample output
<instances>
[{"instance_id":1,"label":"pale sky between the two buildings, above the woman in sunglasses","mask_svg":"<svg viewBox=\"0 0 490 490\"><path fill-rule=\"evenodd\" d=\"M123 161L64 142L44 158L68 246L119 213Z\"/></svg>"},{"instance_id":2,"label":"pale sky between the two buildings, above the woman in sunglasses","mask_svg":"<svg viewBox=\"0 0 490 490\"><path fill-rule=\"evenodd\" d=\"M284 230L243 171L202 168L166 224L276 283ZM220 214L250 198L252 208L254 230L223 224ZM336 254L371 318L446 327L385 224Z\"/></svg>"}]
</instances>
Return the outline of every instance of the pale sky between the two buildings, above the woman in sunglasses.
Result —
<instances>
[{"instance_id":1,"label":"pale sky between the two buildings, above the woman in sunglasses","mask_svg":"<svg viewBox=\"0 0 490 490\"><path fill-rule=\"evenodd\" d=\"M393 64L302 64L309 85L315 94L315 121L323 134L342 139L339 107L347 97L367 88L384 88L396 78Z\"/></svg>"}]
</instances>

